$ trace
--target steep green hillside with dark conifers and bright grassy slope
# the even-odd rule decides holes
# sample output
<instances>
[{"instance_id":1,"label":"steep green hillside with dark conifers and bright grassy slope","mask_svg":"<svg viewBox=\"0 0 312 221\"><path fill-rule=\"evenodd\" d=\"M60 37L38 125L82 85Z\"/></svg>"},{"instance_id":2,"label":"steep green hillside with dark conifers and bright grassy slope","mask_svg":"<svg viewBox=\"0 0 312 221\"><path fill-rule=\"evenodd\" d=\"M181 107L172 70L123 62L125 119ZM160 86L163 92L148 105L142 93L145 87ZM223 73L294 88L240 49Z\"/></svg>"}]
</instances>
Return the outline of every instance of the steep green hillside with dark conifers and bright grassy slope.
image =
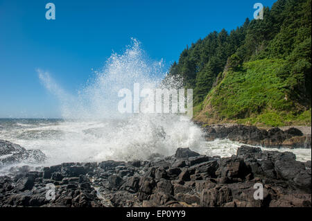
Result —
<instances>
[{"instance_id":1,"label":"steep green hillside with dark conifers and bright grassy slope","mask_svg":"<svg viewBox=\"0 0 312 221\"><path fill-rule=\"evenodd\" d=\"M263 19L210 33L169 76L193 88L198 121L311 125L311 0L279 0Z\"/></svg>"}]
</instances>

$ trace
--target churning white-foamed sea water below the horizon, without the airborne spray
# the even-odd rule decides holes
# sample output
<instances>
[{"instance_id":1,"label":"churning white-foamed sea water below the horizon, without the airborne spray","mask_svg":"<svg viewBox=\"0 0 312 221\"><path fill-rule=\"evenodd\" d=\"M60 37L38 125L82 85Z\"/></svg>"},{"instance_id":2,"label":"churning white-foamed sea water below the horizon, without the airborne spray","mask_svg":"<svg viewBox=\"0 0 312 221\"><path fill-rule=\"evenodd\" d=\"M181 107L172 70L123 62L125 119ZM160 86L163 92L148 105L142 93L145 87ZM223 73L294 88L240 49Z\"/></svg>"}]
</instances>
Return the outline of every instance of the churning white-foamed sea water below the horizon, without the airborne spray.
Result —
<instances>
[{"instance_id":1,"label":"churning white-foamed sea water below the horizon, without the airborne spray","mask_svg":"<svg viewBox=\"0 0 312 221\"><path fill-rule=\"evenodd\" d=\"M227 139L205 141L202 135L197 125L180 121L177 116L101 121L0 119L0 139L46 154L42 165L31 166L148 159L151 154L170 156L177 148L190 148L211 157L230 157L243 145ZM293 152L300 161L311 160L311 149L282 148L279 151Z\"/></svg>"}]
</instances>

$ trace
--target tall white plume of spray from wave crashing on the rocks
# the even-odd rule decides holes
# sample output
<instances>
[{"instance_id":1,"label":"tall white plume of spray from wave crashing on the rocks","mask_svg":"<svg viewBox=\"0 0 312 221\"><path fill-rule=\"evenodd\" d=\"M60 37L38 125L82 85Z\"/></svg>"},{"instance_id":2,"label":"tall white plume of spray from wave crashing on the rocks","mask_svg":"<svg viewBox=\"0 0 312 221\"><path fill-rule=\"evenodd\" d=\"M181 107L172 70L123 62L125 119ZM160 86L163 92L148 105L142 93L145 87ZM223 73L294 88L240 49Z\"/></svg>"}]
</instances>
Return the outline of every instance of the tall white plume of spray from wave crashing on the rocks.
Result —
<instances>
[{"instance_id":1,"label":"tall white plume of spray from wave crashing on the rocks","mask_svg":"<svg viewBox=\"0 0 312 221\"><path fill-rule=\"evenodd\" d=\"M200 129L191 121L180 121L175 114L133 114L116 120L121 116L118 91L133 91L134 83L139 83L141 89L164 87L163 69L162 61L149 60L139 42L132 39L124 53L111 55L77 96L61 89L49 73L38 71L46 88L61 100L63 117L76 119L49 127L62 133L40 147L46 148L45 153L54 163L148 159L155 153L168 156L177 148L198 150L205 142ZM181 85L173 78L168 82L170 87Z\"/></svg>"}]
</instances>

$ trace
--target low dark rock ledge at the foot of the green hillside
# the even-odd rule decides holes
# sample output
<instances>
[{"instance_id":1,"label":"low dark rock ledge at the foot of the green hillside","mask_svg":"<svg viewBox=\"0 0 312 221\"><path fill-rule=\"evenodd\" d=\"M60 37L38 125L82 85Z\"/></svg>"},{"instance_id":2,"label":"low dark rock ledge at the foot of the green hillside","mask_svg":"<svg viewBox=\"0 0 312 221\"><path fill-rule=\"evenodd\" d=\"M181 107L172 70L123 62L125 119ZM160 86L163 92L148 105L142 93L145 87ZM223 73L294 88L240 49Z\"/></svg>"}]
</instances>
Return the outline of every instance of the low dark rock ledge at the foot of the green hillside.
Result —
<instances>
[{"instance_id":1,"label":"low dark rock ledge at the foot of the green hillside","mask_svg":"<svg viewBox=\"0 0 312 221\"><path fill-rule=\"evenodd\" d=\"M255 126L245 125L232 125L229 127L224 125L201 126L205 132L205 138L209 141L229 139L267 148L311 148L311 135L304 135L294 127L283 131L278 127L263 130Z\"/></svg>"}]
</instances>

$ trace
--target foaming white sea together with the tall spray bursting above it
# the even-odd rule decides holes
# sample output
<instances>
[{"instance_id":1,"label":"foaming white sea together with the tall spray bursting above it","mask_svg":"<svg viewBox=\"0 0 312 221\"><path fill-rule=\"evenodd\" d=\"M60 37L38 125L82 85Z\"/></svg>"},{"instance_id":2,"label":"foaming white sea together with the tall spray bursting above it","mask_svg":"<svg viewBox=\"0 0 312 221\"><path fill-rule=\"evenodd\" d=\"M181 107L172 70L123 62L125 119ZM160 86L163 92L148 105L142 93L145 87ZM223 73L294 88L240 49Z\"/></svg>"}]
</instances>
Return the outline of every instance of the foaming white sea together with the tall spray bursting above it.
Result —
<instances>
[{"instance_id":1,"label":"foaming white sea together with the tall spray bursting above it","mask_svg":"<svg viewBox=\"0 0 312 221\"><path fill-rule=\"evenodd\" d=\"M180 121L177 114L121 114L117 108L120 89L133 91L135 83L141 89L164 87L162 60L150 60L135 39L122 53L112 53L104 67L94 71L74 94L62 89L51 73L42 69L37 73L46 90L58 98L62 117L0 119L0 139L46 154L42 165L33 166L148 159L151 154L170 156L177 148L230 157L242 145L229 140L208 142L197 125ZM168 79L166 87L180 88L178 79ZM300 161L311 160L311 149L280 149L286 150Z\"/></svg>"}]
</instances>

